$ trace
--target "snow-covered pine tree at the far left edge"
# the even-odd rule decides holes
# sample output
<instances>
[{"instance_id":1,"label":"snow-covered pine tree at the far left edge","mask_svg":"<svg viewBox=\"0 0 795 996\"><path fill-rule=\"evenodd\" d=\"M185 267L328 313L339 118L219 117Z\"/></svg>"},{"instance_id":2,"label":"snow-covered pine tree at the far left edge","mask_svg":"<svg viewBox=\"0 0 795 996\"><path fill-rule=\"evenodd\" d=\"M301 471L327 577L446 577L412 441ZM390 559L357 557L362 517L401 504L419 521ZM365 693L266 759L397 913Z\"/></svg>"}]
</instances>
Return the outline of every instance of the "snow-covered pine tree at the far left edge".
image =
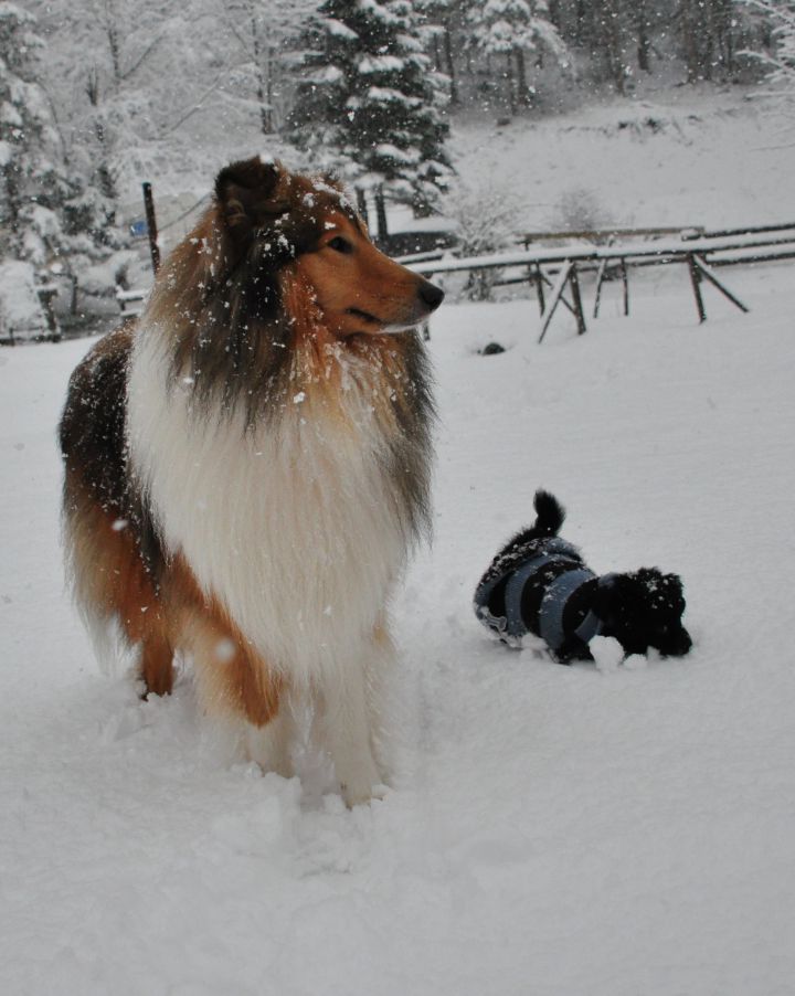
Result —
<instances>
[{"instance_id":1,"label":"snow-covered pine tree at the far left edge","mask_svg":"<svg viewBox=\"0 0 795 996\"><path fill-rule=\"evenodd\" d=\"M0 259L41 265L61 252L60 209L70 194L46 94L35 18L0 2Z\"/></svg>"}]
</instances>

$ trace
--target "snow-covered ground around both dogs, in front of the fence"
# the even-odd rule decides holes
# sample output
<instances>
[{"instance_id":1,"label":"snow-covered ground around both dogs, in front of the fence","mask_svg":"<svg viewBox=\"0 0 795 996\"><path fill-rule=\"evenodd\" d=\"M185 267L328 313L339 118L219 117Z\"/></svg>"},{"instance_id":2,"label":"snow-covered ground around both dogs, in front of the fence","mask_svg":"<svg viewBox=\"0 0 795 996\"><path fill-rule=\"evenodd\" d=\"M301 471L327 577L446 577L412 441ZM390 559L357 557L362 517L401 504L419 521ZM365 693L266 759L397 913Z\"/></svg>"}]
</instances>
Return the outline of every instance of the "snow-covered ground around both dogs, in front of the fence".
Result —
<instances>
[{"instance_id":1,"label":"snow-covered ground around both dogs, in front of the fence","mask_svg":"<svg viewBox=\"0 0 795 996\"><path fill-rule=\"evenodd\" d=\"M352 812L140 702L63 593L54 431L88 342L0 353L0 992L774 996L795 977L789 264L442 309L436 538L395 604L399 783ZM593 288L586 287L589 299ZM507 351L480 357L498 339ZM692 654L562 667L471 612L537 487L598 571L681 573Z\"/></svg>"}]
</instances>

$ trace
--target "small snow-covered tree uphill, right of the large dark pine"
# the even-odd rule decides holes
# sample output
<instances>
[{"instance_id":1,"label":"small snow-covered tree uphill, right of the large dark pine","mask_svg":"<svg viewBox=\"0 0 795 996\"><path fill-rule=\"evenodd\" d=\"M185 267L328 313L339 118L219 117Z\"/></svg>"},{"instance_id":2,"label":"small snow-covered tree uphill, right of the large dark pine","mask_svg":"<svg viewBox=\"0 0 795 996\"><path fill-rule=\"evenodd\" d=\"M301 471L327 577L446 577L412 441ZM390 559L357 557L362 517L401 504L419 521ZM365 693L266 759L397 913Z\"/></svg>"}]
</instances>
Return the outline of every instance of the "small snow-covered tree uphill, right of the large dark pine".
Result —
<instances>
[{"instance_id":1,"label":"small snow-covered tree uphill, right of the large dark pine","mask_svg":"<svg viewBox=\"0 0 795 996\"><path fill-rule=\"evenodd\" d=\"M505 59L502 73L511 114L531 103L527 57L550 53L565 63L566 46L550 20L547 0L475 0L470 41L487 55Z\"/></svg>"}]
</instances>

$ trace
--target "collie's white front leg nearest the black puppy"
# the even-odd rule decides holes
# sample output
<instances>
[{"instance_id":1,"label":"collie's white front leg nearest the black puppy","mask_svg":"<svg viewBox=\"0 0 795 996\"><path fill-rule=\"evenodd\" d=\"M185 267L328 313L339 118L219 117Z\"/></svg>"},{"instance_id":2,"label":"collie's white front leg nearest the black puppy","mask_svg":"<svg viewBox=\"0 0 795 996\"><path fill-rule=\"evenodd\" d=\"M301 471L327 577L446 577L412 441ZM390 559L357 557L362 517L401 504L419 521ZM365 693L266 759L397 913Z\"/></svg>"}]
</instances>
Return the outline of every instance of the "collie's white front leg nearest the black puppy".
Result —
<instances>
[{"instance_id":1,"label":"collie's white front leg nearest the black puppy","mask_svg":"<svg viewBox=\"0 0 795 996\"><path fill-rule=\"evenodd\" d=\"M374 679L386 664L384 656L389 656L384 646L374 644L365 657L346 663L316 688L315 729L331 755L348 806L379 797L383 788L385 773L375 749L382 739L380 706L373 701L373 690L381 684Z\"/></svg>"}]
</instances>

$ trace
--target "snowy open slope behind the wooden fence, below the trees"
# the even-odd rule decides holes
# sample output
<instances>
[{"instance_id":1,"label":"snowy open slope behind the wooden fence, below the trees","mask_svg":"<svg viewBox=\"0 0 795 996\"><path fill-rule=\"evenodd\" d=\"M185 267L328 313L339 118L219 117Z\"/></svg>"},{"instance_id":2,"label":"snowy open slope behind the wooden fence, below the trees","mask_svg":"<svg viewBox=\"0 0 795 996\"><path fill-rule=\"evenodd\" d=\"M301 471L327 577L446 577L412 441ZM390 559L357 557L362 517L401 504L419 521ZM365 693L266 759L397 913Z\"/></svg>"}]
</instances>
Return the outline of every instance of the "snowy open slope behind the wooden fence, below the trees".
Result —
<instances>
[{"instance_id":1,"label":"snowy open slope behind the wooden fence, below the trees","mask_svg":"<svg viewBox=\"0 0 795 996\"><path fill-rule=\"evenodd\" d=\"M605 225L795 221L792 121L743 95L681 87L505 127L458 123L456 167L468 186L515 197L529 231L564 227L572 202Z\"/></svg>"}]
</instances>

